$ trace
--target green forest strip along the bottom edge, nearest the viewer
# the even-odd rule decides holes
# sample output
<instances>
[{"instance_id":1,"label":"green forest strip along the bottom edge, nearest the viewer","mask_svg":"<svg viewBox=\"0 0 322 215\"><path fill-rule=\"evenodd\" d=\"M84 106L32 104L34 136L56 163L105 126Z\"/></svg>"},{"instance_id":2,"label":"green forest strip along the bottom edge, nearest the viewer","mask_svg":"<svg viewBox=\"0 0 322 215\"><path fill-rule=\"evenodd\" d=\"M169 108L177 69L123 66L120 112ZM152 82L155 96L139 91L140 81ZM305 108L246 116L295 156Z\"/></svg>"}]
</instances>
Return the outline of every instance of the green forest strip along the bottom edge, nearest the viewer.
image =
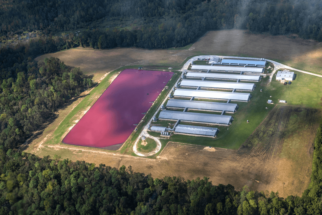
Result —
<instances>
[{"instance_id":1,"label":"green forest strip along the bottom edge, nearest the viewer","mask_svg":"<svg viewBox=\"0 0 322 215\"><path fill-rule=\"evenodd\" d=\"M85 161L39 158L0 150L0 214L319 215L322 214L322 125L315 140L311 184L302 197L235 191L208 178L153 179Z\"/></svg>"}]
</instances>

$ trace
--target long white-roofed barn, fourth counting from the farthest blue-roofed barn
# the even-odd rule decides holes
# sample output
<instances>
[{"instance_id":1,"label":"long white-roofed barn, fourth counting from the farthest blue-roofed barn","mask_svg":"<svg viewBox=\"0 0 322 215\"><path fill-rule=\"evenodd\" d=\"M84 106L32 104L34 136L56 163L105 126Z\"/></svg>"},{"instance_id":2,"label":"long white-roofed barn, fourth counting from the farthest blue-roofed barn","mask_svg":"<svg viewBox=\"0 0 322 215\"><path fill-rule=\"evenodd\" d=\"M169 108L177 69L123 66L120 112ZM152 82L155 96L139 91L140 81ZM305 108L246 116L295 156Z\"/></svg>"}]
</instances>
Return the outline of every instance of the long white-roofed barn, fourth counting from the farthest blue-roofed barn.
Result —
<instances>
[{"instance_id":1,"label":"long white-roofed barn, fourth counting from the farthest blue-roofed barn","mask_svg":"<svg viewBox=\"0 0 322 215\"><path fill-rule=\"evenodd\" d=\"M221 82L221 81L199 81L199 80L182 80L181 86L188 87L207 87L219 89L236 89L236 90L255 90L256 85L253 83L236 83L236 82Z\"/></svg>"}]
</instances>

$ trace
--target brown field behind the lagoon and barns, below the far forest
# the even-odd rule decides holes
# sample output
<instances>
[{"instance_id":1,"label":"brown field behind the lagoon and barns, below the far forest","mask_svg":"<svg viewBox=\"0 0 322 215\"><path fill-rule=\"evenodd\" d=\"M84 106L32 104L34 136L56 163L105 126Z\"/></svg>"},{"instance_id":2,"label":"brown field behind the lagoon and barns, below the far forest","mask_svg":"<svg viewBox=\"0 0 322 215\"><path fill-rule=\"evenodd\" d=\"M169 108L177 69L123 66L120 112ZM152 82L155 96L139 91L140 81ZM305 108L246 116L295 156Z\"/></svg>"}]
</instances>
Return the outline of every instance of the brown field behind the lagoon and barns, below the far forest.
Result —
<instances>
[{"instance_id":1,"label":"brown field behind the lagoon and barns, below the far forest","mask_svg":"<svg viewBox=\"0 0 322 215\"><path fill-rule=\"evenodd\" d=\"M80 67L94 80L120 66L126 65L179 65L194 54L238 55L278 59L282 63L311 72L322 73L322 43L303 40L296 35L270 36L246 34L243 30L211 31L188 50L147 50L114 48L98 50L74 48L44 54L35 60L58 57L66 65Z\"/></svg>"}]
</instances>

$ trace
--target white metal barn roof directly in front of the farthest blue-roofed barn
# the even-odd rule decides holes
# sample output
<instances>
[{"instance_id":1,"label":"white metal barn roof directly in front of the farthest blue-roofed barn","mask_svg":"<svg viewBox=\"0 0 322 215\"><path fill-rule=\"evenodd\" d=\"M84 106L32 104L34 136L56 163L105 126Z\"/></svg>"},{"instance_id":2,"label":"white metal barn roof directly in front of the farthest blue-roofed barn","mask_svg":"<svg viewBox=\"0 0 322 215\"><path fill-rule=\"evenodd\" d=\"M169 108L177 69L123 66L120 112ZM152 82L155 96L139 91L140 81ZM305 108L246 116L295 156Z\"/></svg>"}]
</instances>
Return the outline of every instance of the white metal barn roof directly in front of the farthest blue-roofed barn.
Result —
<instances>
[{"instance_id":1,"label":"white metal barn roof directly in front of the farthest blue-roofed barn","mask_svg":"<svg viewBox=\"0 0 322 215\"><path fill-rule=\"evenodd\" d=\"M197 70L213 70L213 71L232 71L232 72L248 72L248 73L262 73L264 68L258 67L242 67L242 66L208 66L208 65L192 65L191 69Z\"/></svg>"}]
</instances>

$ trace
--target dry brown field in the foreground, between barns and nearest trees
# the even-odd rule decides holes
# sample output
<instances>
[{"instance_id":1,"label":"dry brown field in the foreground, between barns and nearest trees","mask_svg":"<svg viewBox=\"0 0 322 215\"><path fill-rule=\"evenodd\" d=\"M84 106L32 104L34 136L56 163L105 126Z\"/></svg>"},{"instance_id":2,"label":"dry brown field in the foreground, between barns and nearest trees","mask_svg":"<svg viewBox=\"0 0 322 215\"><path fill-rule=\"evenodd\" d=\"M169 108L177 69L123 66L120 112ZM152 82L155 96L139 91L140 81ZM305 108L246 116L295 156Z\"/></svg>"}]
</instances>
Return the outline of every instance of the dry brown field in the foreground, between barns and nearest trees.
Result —
<instances>
[{"instance_id":1,"label":"dry brown field in the foreground, between barns and nearest trees","mask_svg":"<svg viewBox=\"0 0 322 215\"><path fill-rule=\"evenodd\" d=\"M317 109L277 105L239 150L169 142L156 159L68 145L42 145L34 152L116 168L131 165L134 171L151 173L154 178L206 176L213 184L229 183L238 190L247 185L258 191L278 191L281 197L284 191L285 196L301 196L310 182L321 115Z\"/></svg>"}]
</instances>

